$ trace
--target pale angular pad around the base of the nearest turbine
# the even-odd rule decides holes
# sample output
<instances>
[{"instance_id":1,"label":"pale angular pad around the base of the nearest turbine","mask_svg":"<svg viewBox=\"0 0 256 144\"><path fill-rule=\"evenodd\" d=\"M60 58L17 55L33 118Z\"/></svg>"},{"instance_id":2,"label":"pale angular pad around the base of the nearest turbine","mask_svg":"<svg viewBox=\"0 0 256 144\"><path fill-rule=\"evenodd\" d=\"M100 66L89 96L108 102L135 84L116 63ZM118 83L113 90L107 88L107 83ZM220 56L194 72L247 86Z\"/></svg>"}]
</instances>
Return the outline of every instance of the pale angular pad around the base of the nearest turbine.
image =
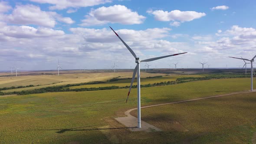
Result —
<instances>
[{"instance_id":1,"label":"pale angular pad around the base of the nearest turbine","mask_svg":"<svg viewBox=\"0 0 256 144\"><path fill-rule=\"evenodd\" d=\"M161 131L161 129L156 128L154 125L151 125L145 121L141 121L141 128L136 128L138 125L137 118L131 115L128 117L115 118L115 120L117 120L121 124L124 124L126 127L129 128L130 131Z\"/></svg>"}]
</instances>

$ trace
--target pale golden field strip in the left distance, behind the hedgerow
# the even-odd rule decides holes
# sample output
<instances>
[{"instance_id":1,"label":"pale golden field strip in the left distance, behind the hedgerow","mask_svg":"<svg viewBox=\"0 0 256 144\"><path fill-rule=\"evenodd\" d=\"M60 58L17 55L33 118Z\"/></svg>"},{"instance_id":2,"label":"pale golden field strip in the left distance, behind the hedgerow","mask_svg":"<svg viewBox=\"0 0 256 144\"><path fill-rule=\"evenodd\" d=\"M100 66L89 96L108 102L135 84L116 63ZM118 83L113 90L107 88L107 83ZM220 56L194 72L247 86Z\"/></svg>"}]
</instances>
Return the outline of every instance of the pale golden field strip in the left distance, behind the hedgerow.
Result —
<instances>
[{"instance_id":1,"label":"pale golden field strip in the left distance, behind the hedgerow","mask_svg":"<svg viewBox=\"0 0 256 144\"><path fill-rule=\"evenodd\" d=\"M93 81L107 81L114 77L120 76L120 78L130 78L132 72L98 72L98 73L78 73L78 74L65 74L65 75L33 75L33 76L18 76L18 77L0 77L0 88L11 86L26 86L26 85L39 85L27 88L17 88L15 91L31 90L35 88L44 88L54 85L67 85L82 82ZM156 75L165 75L157 73L145 73L141 72L141 77L149 77ZM11 92L14 89L5 90L3 92Z\"/></svg>"}]
</instances>

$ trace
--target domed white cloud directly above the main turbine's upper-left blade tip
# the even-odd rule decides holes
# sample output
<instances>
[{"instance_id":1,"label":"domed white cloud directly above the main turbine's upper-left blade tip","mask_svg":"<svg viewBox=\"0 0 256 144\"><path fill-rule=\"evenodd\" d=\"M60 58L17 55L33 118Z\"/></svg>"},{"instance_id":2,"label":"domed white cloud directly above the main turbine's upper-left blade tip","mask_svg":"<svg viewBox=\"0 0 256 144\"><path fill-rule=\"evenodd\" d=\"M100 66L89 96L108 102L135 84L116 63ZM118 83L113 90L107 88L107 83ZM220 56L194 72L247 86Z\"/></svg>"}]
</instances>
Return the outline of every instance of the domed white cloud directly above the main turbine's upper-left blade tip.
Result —
<instances>
[{"instance_id":1,"label":"domed white cloud directly above the main turbine's upper-left blade tip","mask_svg":"<svg viewBox=\"0 0 256 144\"><path fill-rule=\"evenodd\" d=\"M132 12L125 6L114 5L91 10L80 26L103 25L106 23L141 24L145 16Z\"/></svg>"}]
</instances>

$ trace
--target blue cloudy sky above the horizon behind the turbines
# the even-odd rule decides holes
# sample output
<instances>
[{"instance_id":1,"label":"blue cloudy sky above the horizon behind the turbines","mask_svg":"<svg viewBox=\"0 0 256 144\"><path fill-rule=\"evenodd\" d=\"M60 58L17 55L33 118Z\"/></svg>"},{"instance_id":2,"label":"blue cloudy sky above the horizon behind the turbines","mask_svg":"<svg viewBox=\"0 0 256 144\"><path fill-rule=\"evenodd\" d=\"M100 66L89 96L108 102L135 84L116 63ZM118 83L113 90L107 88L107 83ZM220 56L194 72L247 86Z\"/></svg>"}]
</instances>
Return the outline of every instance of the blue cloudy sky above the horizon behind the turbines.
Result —
<instances>
[{"instance_id":1,"label":"blue cloudy sky above the horizon behind the turbines","mask_svg":"<svg viewBox=\"0 0 256 144\"><path fill-rule=\"evenodd\" d=\"M240 67L228 56L256 55L255 14L255 0L2 0L0 70L135 66L108 26L141 59L188 52L153 67Z\"/></svg>"}]
</instances>

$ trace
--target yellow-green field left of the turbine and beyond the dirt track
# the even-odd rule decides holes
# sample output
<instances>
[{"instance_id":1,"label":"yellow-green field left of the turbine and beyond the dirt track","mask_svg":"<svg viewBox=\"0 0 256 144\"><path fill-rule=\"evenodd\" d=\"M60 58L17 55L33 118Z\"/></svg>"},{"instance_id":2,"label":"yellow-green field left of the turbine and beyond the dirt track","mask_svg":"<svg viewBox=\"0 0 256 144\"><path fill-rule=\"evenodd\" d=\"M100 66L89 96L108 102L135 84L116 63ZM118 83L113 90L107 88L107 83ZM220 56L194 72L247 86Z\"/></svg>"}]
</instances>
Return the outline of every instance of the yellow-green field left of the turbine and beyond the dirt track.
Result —
<instances>
[{"instance_id":1,"label":"yellow-green field left of the turbine and beyond the dirt track","mask_svg":"<svg viewBox=\"0 0 256 144\"><path fill-rule=\"evenodd\" d=\"M249 85L249 79L244 78L212 79L141 88L141 105L248 90ZM124 116L124 111L136 107L136 89L131 90L128 103L125 104L127 92L128 89L115 89L0 97L0 119L2 120L0 141L2 143L110 143L114 141L135 143L154 142L154 139L157 142L163 137L175 139L183 137L179 132L170 131L130 132L113 120L115 117ZM157 109L156 107L155 110ZM142 116L145 114L143 110ZM237 129L240 130L240 128ZM250 131L253 130L250 129ZM217 133L213 138L218 136L220 135ZM193 138L193 136L190 137Z\"/></svg>"}]
</instances>

